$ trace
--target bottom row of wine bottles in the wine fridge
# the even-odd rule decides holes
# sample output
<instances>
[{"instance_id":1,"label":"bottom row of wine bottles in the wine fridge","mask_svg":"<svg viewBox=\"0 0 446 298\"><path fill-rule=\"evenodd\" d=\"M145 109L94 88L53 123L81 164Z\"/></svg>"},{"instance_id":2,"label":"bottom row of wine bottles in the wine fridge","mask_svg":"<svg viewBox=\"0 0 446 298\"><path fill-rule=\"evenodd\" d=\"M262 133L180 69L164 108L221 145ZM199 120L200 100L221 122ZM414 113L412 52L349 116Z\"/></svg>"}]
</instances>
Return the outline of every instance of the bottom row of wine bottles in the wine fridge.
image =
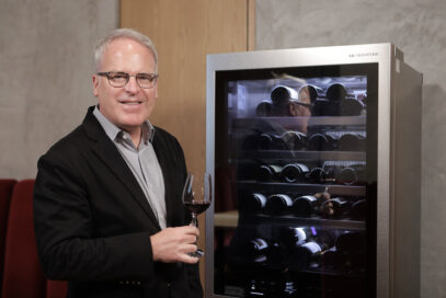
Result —
<instances>
[{"instance_id":1,"label":"bottom row of wine bottles in the wine fridge","mask_svg":"<svg viewBox=\"0 0 446 298\"><path fill-rule=\"evenodd\" d=\"M278 239L239 239L231 256L237 265L284 271L320 270L359 273L365 270L366 238L363 232L288 227Z\"/></svg>"}]
</instances>

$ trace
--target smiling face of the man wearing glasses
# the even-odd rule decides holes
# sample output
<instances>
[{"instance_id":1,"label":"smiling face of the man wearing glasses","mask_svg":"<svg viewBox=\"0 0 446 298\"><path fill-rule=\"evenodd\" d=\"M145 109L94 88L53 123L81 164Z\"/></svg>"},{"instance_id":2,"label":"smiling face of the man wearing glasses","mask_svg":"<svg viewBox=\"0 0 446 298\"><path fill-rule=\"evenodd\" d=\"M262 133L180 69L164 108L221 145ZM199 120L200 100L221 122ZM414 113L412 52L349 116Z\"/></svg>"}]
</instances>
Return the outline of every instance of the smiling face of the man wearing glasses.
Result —
<instances>
[{"instance_id":1,"label":"smiling face of the man wearing glasses","mask_svg":"<svg viewBox=\"0 0 446 298\"><path fill-rule=\"evenodd\" d=\"M155 73L156 64L150 49L129 39L118 38L105 48L99 72L122 71L130 76ZM125 131L137 131L153 111L158 99L158 83L142 89L130 77L122 88L112 87L106 77L93 76L93 94L98 98L101 113Z\"/></svg>"}]
</instances>

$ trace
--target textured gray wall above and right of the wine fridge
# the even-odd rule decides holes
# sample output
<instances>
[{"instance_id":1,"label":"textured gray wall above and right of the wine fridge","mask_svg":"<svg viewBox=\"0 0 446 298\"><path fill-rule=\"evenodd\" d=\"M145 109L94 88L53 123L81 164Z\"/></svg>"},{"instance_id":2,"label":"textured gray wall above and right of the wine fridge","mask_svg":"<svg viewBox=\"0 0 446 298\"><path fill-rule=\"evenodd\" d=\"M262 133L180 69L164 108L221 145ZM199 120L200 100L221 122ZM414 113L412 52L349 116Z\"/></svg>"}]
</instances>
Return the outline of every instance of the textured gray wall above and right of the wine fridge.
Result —
<instances>
[{"instance_id":1,"label":"textured gray wall above and right of the wine fridge","mask_svg":"<svg viewBox=\"0 0 446 298\"><path fill-rule=\"evenodd\" d=\"M391 42L424 74L423 298L446 297L445 20L445 0L256 0L256 49Z\"/></svg>"}]
</instances>

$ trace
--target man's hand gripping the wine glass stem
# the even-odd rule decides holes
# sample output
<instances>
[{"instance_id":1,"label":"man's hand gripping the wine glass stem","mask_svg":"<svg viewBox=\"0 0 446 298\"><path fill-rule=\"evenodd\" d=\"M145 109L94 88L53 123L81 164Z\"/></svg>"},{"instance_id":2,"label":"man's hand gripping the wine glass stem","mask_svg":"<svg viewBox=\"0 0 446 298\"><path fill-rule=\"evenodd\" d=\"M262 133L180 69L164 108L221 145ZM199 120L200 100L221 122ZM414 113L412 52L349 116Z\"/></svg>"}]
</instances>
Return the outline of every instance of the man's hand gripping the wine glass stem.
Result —
<instances>
[{"instance_id":1,"label":"man's hand gripping the wine glass stem","mask_svg":"<svg viewBox=\"0 0 446 298\"><path fill-rule=\"evenodd\" d=\"M198 236L198 229L193 226L167 228L153 234L150 237L153 260L164 263L197 263L198 257L187 253L196 251L195 242Z\"/></svg>"}]
</instances>

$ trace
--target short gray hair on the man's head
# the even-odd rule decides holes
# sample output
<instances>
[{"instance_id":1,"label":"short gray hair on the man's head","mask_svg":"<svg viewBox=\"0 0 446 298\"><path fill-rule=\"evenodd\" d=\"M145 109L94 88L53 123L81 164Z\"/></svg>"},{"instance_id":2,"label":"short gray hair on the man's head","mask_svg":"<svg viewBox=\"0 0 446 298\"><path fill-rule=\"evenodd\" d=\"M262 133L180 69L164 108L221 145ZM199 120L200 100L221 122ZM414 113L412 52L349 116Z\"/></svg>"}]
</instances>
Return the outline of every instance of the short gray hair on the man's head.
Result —
<instances>
[{"instance_id":1,"label":"short gray hair on the man's head","mask_svg":"<svg viewBox=\"0 0 446 298\"><path fill-rule=\"evenodd\" d=\"M153 42L142 33L137 32L133 28L117 28L108 33L104 38L98 42L96 46L94 47L94 67L95 70L99 71L102 56L106 49L106 47L115 39L118 38L129 38L134 39L135 42L146 46L150 51L153 54L155 58L155 71L158 72L158 53L157 48L155 47Z\"/></svg>"}]
</instances>

